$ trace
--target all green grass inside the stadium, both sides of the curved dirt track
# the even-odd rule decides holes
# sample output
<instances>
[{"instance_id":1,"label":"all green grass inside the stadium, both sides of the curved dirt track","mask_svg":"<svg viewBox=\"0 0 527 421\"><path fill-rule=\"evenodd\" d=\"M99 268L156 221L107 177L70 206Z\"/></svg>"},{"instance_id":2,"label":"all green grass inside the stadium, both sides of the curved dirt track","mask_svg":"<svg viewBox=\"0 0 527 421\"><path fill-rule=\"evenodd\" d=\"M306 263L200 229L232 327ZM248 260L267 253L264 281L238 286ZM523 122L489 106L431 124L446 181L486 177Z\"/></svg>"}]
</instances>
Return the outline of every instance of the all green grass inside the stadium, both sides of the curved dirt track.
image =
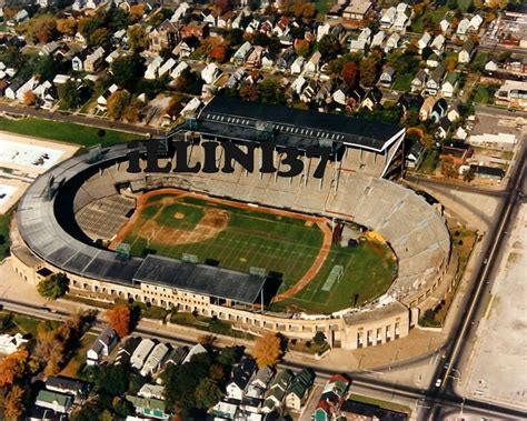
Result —
<instances>
[{"instance_id":1,"label":"all green grass inside the stadium, both sides of the curved dirt track","mask_svg":"<svg viewBox=\"0 0 527 421\"><path fill-rule=\"evenodd\" d=\"M295 285L309 271L320 252L324 233L308 217L284 215L262 209L246 209L225 201L163 193L149 197L125 242L135 255L157 253L181 259L196 254L200 262L248 272L250 267L281 274L279 293ZM336 265L342 278L328 289L326 281ZM382 294L397 272L386 244L361 241L355 248L332 245L312 281L292 298L272 304L272 310L332 312L368 302Z\"/></svg>"}]
</instances>

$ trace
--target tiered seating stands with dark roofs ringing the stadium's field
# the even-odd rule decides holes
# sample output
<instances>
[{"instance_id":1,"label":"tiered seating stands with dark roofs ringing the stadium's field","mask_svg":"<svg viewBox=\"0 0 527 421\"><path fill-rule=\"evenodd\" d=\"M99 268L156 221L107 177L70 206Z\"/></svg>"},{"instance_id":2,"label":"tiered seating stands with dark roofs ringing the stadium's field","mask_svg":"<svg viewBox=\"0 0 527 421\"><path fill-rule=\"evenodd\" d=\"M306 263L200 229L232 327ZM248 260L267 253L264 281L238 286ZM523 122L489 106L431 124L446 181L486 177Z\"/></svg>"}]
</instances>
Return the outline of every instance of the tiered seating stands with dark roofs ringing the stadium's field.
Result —
<instances>
[{"instance_id":1,"label":"tiered seating stands with dark roofs ringing the stadium's field","mask_svg":"<svg viewBox=\"0 0 527 421\"><path fill-rule=\"evenodd\" d=\"M81 284L83 279L92 279L125 285L129 291L140 288L142 293L148 292L149 284L156 284L163 289L173 288L173 293L178 291L178 294L189 291L210 297L209 307L212 302L231 309L245 305L250 311L264 303L264 299L269 301L270 297L265 297L265 281L252 273L153 255L120 261L115 252L96 247L95 239L111 239L126 223L135 208L133 199L130 199L133 193L178 188L366 227L381 235L398 259L398 275L387 291L387 302L398 302L399 307L396 310L390 307L384 314L392 317L401 311L401 304L419 307L446 271L450 240L441 215L432 207L411 190L385 179L398 167L404 129L296 110L282 114L275 108L250 103L241 107L232 101L226 98L212 100L199 112L196 121L170 134L169 140L191 143L190 166L203 161L203 150L199 146L202 140L236 141L241 148L247 141L274 141L277 144L276 167L280 162L281 146L295 146L301 150L319 142L331 144L334 150L324 177L314 178L319 159L307 157L302 158L305 172L296 178L258 171L249 173L240 164L235 164L235 172L230 174L129 173L127 146L119 144L105 149L97 162L89 162L86 156L74 157L36 180L17 212L18 229L26 245L52 268L80 277ZM146 151L145 146L140 148ZM221 148L217 153L220 162ZM260 157L261 150L257 148L256 168ZM168 160L171 158L161 159L160 166ZM141 168L146 167L145 159L140 163ZM50 177L53 180L51 187ZM54 196L47 194L50 188L56 189ZM105 219L105 214L112 217ZM338 282L340 273L336 268L328 285ZM189 279L202 281L196 282L193 288ZM221 284L228 285L226 292L219 287ZM242 294L237 290L250 293ZM139 295L129 293L128 297ZM183 308L198 309L206 302L196 297L189 299L186 293L178 297ZM192 299L192 305L197 307L190 305ZM158 302L161 305L167 303L165 298ZM207 314L211 313L205 307L202 309ZM347 314L346 311L340 313ZM221 311L218 315L221 317ZM350 323L349 320L346 315L346 323ZM356 337L352 341L357 340Z\"/></svg>"}]
</instances>

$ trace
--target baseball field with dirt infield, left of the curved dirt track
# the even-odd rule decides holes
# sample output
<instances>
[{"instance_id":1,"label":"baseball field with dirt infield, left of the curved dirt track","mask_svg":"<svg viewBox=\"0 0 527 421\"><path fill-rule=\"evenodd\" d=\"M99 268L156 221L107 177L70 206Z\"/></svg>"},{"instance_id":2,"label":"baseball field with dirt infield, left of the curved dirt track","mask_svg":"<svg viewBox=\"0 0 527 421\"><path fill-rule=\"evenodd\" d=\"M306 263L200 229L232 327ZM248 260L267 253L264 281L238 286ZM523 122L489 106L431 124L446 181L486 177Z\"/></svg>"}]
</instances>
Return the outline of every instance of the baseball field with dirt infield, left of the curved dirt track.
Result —
<instances>
[{"instance_id":1,"label":"baseball field with dirt infield, left of the curved dirt track","mask_svg":"<svg viewBox=\"0 0 527 421\"><path fill-rule=\"evenodd\" d=\"M182 253L190 253L198 255L200 262L215 260L222 268L243 272L251 267L265 268L267 272L281 273L284 282L291 285L311 267L322 243L320 229L307 225L302 219L246 210L227 202L163 194L150 198L146 204L125 239L135 255L155 252L180 259ZM206 213L210 220L201 222ZM221 218L221 228L213 237L192 242L198 223L206 232ZM152 238L147 244L145 237L150 232Z\"/></svg>"}]
</instances>

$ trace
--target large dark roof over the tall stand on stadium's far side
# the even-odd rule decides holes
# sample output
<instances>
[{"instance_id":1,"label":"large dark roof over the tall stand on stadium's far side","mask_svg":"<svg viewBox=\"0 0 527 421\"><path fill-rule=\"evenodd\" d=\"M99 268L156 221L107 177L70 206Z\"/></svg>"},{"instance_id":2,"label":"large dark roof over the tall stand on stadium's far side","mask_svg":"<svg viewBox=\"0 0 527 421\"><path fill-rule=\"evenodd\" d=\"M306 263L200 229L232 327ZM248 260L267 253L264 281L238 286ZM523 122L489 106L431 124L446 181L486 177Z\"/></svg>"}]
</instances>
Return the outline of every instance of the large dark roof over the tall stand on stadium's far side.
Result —
<instances>
[{"instance_id":1,"label":"large dark roof over the tall stand on stadium's far side","mask_svg":"<svg viewBox=\"0 0 527 421\"><path fill-rule=\"evenodd\" d=\"M278 144L298 149L319 140L384 151L404 133L404 128L354 117L262 106L229 97L215 97L199 113L197 131L240 140L261 139L272 124Z\"/></svg>"}]
</instances>

